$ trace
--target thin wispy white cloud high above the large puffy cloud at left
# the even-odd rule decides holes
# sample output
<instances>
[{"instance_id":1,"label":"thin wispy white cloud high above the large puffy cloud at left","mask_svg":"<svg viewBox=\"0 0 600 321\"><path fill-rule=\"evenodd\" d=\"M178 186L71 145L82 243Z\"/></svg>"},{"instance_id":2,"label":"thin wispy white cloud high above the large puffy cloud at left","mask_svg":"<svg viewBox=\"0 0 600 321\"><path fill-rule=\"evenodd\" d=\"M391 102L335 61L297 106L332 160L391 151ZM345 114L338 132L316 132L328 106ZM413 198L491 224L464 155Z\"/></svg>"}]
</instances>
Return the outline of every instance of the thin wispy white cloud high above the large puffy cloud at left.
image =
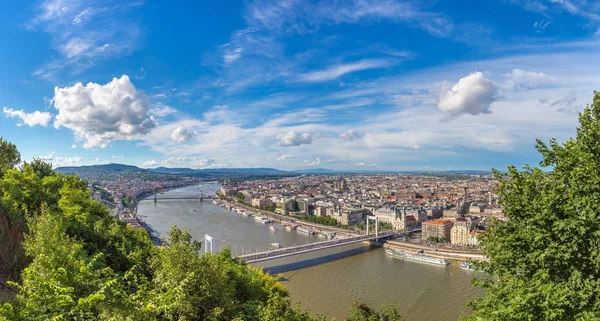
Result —
<instances>
[{"instance_id":1,"label":"thin wispy white cloud high above the large puffy cloud at left","mask_svg":"<svg viewBox=\"0 0 600 321\"><path fill-rule=\"evenodd\" d=\"M44 0L25 27L42 30L58 56L33 75L54 79L65 71L77 74L106 59L137 50L140 27L124 13L142 2L99 5L91 0Z\"/></svg>"}]
</instances>

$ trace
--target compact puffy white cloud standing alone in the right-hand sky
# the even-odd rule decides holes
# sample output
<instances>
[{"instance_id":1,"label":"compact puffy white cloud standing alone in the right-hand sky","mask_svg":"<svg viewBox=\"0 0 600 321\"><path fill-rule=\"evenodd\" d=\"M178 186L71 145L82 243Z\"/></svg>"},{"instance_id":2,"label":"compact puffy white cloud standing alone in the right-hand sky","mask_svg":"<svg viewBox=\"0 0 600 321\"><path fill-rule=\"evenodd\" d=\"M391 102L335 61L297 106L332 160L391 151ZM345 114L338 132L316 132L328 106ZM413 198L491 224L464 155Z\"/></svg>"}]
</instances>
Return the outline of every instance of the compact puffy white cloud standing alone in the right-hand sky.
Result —
<instances>
[{"instance_id":1,"label":"compact puffy white cloud standing alone in the right-hand sky","mask_svg":"<svg viewBox=\"0 0 600 321\"><path fill-rule=\"evenodd\" d=\"M450 87L443 83L438 108L451 115L489 114L490 105L498 99L498 89L481 72L474 72L461 78Z\"/></svg>"}]
</instances>

